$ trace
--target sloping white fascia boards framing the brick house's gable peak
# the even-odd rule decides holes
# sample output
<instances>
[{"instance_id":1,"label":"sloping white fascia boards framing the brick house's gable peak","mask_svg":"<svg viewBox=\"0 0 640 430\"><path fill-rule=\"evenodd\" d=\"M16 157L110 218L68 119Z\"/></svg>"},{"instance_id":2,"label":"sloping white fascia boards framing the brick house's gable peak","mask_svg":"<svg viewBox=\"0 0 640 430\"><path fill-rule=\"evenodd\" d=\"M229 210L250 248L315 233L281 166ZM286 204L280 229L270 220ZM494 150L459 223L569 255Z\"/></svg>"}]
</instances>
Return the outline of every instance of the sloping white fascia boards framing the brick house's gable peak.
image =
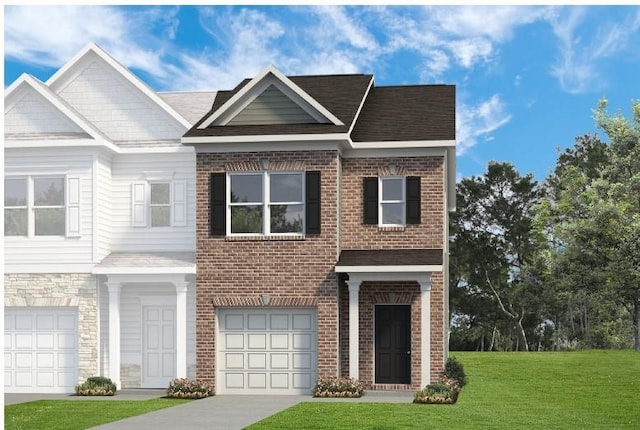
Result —
<instances>
[{"instance_id":1,"label":"sloping white fascia boards framing the brick house's gable peak","mask_svg":"<svg viewBox=\"0 0 640 430\"><path fill-rule=\"evenodd\" d=\"M266 67L264 70L262 70L260 73L258 73L258 75L256 75L253 79L251 79L251 81L249 81L236 94L234 94L229 100L227 100L222 106L220 106L218 110L214 112L204 122L202 122L202 124L200 124L198 128L202 129L202 128L208 127L216 120L226 116L228 114L228 111L235 112L241 109L242 107L245 107L249 102L251 102L253 99L255 99L255 97L257 97L260 94L260 91L259 91L261 88L260 85L263 85L262 84L263 81L267 79L269 75L274 76L276 80L280 81L282 84L288 87L291 91L297 94L298 97L303 99L306 103L308 103L311 107L313 107L313 109L319 112L322 116L326 117L334 125L344 125L342 121L340 121L335 115L329 112L320 103L318 103L313 97L311 97L309 94L303 91L302 88L296 85L291 79L287 78L278 69L270 65ZM269 82L269 83L272 83L272 82ZM279 89L282 91L281 87ZM308 111L307 109L305 110Z\"/></svg>"}]
</instances>

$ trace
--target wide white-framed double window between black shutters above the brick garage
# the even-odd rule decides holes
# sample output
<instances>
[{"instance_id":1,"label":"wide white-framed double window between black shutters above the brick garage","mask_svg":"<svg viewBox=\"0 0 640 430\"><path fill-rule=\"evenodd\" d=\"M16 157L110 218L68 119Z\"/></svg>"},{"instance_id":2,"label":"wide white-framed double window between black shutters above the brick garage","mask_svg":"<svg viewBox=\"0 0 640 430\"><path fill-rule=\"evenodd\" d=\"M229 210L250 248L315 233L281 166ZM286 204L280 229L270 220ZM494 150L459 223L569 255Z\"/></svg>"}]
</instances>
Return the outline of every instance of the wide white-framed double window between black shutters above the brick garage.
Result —
<instances>
[{"instance_id":1,"label":"wide white-framed double window between black shutters above the brick garage","mask_svg":"<svg viewBox=\"0 0 640 430\"><path fill-rule=\"evenodd\" d=\"M304 234L303 172L228 173L227 234Z\"/></svg>"}]
</instances>

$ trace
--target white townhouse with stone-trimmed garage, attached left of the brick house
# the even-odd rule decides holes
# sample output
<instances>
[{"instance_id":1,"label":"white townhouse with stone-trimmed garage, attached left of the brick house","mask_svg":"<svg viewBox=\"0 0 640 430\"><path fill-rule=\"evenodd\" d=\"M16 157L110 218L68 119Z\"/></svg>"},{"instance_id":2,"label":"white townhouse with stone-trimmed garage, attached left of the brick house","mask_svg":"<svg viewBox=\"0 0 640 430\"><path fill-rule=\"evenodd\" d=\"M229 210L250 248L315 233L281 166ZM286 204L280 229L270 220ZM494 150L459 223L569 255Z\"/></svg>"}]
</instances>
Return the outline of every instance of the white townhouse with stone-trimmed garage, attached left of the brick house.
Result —
<instances>
[{"instance_id":1,"label":"white townhouse with stone-trimmed garage, attached left of the brick house","mask_svg":"<svg viewBox=\"0 0 640 430\"><path fill-rule=\"evenodd\" d=\"M195 152L215 93L158 94L90 44L5 91L5 392L195 376Z\"/></svg>"}]
</instances>

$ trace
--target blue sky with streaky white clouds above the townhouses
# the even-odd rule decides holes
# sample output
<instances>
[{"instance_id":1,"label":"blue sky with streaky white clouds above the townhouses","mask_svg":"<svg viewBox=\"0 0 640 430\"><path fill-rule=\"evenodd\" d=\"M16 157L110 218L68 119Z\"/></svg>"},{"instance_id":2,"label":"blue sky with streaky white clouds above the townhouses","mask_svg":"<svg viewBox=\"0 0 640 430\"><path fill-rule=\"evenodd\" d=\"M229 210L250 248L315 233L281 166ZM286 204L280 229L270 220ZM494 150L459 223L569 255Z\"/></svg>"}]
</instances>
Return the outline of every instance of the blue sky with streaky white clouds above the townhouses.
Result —
<instances>
[{"instance_id":1,"label":"blue sky with streaky white clouds above the townhouses","mask_svg":"<svg viewBox=\"0 0 640 430\"><path fill-rule=\"evenodd\" d=\"M158 91L285 74L457 86L458 177L509 161L543 180L592 110L640 99L640 7L5 6L4 83L96 42Z\"/></svg>"}]
</instances>

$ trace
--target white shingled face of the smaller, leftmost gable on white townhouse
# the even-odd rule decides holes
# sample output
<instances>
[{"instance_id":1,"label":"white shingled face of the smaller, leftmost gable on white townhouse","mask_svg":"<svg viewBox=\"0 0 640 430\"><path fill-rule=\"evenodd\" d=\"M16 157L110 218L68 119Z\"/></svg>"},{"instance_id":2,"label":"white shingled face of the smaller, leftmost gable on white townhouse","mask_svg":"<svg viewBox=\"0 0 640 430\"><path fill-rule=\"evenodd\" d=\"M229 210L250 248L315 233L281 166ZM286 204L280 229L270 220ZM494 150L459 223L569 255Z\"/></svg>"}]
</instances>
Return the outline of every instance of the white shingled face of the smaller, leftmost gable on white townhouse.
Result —
<instances>
[{"instance_id":1,"label":"white shingled face of the smaller, leftmost gable on white townhouse","mask_svg":"<svg viewBox=\"0 0 640 430\"><path fill-rule=\"evenodd\" d=\"M15 135L86 135L72 119L33 88L22 89L4 114L4 133Z\"/></svg>"}]
</instances>

